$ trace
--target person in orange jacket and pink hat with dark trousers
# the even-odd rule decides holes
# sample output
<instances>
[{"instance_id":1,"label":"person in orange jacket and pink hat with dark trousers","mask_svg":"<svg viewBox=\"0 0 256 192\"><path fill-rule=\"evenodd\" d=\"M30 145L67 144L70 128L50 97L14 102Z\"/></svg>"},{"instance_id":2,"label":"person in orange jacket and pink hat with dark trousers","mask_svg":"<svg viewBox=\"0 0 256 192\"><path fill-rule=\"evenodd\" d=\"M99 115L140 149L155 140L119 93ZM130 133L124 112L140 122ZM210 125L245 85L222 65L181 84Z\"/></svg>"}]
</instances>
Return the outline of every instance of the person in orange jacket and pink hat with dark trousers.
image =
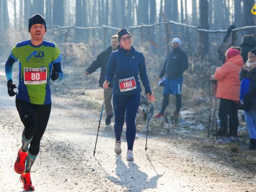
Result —
<instances>
[{"instance_id":1,"label":"person in orange jacket and pink hat with dark trousers","mask_svg":"<svg viewBox=\"0 0 256 192\"><path fill-rule=\"evenodd\" d=\"M243 65L240 50L231 47L226 51L226 62L216 69L214 75L211 75L211 79L218 81L216 97L220 99L219 135L222 136L223 142L235 140L238 134L239 72ZM228 133L229 118L231 125L229 124Z\"/></svg>"}]
</instances>

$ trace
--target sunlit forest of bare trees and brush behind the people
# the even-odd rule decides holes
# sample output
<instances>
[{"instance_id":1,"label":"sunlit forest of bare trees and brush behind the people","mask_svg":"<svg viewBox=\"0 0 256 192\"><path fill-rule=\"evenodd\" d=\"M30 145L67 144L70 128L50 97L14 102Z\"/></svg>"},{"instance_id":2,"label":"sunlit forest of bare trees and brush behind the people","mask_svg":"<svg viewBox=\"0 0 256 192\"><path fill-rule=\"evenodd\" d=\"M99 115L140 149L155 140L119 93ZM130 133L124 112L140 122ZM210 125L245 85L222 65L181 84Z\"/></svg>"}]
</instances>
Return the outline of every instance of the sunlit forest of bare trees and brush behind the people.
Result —
<instances>
[{"instance_id":1,"label":"sunlit forest of bare trees and brush behind the people","mask_svg":"<svg viewBox=\"0 0 256 192\"><path fill-rule=\"evenodd\" d=\"M223 64L218 50L230 25L252 27L237 31L236 41L227 41L226 49L238 46L243 35L255 34L254 4L255 0L0 0L0 61L6 61L16 42L29 39L28 18L39 13L46 18L46 41L55 42L63 57L65 78L53 89L64 95L86 94L98 87L99 70L88 77L83 71L110 46L110 37L126 27L136 49L145 55L159 110L158 75L171 40L179 37L189 55L183 110L192 109L192 117L207 127L210 75ZM174 110L174 98L168 110Z\"/></svg>"}]
</instances>

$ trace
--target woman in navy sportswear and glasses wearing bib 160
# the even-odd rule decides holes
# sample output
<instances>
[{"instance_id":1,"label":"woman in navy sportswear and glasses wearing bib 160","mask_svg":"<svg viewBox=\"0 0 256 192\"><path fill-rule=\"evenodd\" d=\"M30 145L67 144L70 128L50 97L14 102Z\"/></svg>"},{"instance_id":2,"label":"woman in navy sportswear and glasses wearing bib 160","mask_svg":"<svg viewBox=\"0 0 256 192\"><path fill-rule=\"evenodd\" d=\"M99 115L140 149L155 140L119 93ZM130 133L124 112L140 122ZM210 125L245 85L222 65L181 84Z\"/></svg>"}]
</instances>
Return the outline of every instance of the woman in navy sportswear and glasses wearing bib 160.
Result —
<instances>
[{"instance_id":1,"label":"woman in navy sportswear and glasses wearing bib 160","mask_svg":"<svg viewBox=\"0 0 256 192\"><path fill-rule=\"evenodd\" d=\"M121 134L124 120L126 120L127 160L133 160L135 117L141 93L140 80L145 87L147 98L154 101L155 96L148 82L144 55L133 47L131 34L123 28L118 32L118 38L120 47L110 55L103 88L109 88L114 78L112 92L115 114L115 152L118 155L122 152Z\"/></svg>"}]
</instances>

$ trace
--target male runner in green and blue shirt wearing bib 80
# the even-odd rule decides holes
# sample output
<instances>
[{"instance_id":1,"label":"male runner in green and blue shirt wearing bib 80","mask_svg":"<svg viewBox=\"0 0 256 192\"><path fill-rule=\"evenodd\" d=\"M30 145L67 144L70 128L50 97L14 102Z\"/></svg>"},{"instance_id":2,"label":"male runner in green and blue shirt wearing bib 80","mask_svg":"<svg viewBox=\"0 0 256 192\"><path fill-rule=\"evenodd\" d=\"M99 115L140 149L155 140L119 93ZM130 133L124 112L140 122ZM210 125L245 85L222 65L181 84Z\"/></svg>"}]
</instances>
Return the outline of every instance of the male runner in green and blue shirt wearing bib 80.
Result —
<instances>
[{"instance_id":1,"label":"male runner in green and blue shirt wearing bib 80","mask_svg":"<svg viewBox=\"0 0 256 192\"><path fill-rule=\"evenodd\" d=\"M62 80L61 55L52 42L44 41L46 20L39 14L28 19L30 40L18 42L5 64L9 96L16 96L16 108L25 128L14 170L20 175L24 191L34 191L31 167L39 152L40 140L51 112L50 79ZM12 83L12 67L19 60L18 93Z\"/></svg>"}]
</instances>

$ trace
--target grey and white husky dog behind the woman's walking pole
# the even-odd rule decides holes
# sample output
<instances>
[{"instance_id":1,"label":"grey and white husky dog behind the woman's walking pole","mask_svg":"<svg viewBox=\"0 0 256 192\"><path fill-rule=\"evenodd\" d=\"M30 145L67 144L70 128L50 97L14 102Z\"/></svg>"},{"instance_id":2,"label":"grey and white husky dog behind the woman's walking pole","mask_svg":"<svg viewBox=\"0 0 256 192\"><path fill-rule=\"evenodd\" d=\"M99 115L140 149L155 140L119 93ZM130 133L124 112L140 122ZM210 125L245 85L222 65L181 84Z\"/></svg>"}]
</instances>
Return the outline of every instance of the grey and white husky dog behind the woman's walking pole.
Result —
<instances>
[{"instance_id":1,"label":"grey and white husky dog behind the woman's walking pole","mask_svg":"<svg viewBox=\"0 0 256 192\"><path fill-rule=\"evenodd\" d=\"M135 125L137 127L138 121L140 120L140 121L143 121L144 127L142 127L141 129L138 129L138 131L146 132L147 118L148 118L148 131L150 131L149 122L154 115L154 106L151 102L150 102L150 109L149 109L149 117L147 115L148 115L148 101L146 96L141 94L140 104L139 104L138 111L135 118Z\"/></svg>"}]
</instances>

